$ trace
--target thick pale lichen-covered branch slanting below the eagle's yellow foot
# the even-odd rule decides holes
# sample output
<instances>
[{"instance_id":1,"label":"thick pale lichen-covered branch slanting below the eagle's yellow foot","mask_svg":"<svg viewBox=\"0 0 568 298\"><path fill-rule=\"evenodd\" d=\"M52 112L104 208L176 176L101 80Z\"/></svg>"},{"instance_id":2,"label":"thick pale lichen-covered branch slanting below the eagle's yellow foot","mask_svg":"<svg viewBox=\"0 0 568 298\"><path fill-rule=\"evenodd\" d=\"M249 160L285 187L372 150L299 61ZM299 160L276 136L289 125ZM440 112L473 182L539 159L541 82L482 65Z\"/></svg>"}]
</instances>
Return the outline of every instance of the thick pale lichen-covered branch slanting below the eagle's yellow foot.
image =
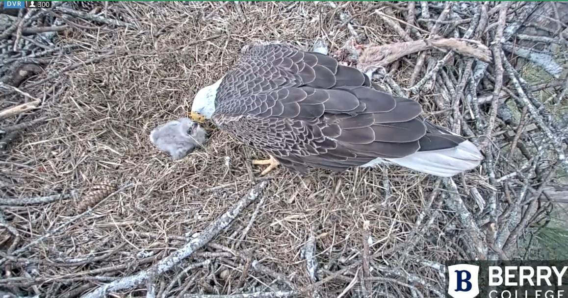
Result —
<instances>
[{"instance_id":1,"label":"thick pale lichen-covered branch slanting below the eagle's yellow foot","mask_svg":"<svg viewBox=\"0 0 568 298\"><path fill-rule=\"evenodd\" d=\"M193 238L186 245L181 247L181 249L176 250L174 253L170 254L168 257L162 259L160 262L156 263L152 267L140 271L135 275L126 276L115 282L105 284L97 288L94 292L91 292L85 296L85 298L95 298L95 297L105 297L107 293L120 291L122 289L128 289L135 286L139 286L146 282L149 278L153 276L158 276L168 270L173 266L176 266L183 259L189 257L196 250L206 245L215 236L217 236L222 230L226 229L231 225L232 221L239 215L241 211L248 204L252 203L262 194L262 191L266 187L268 182L258 183L256 186L249 191L249 193L243 198L241 198L235 205L232 205L227 212L223 213L218 219L213 221L208 225L203 232L199 233L198 237Z\"/></svg>"}]
</instances>

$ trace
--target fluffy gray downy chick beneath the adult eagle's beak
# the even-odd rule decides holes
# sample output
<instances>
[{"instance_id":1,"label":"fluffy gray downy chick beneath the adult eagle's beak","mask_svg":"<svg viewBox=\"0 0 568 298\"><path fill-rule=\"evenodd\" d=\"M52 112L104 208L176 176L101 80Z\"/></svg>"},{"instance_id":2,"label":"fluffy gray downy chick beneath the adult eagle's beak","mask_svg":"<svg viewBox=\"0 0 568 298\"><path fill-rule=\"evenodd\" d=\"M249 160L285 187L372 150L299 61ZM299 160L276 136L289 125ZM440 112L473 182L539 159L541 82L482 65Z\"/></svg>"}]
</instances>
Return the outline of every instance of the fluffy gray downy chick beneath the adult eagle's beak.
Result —
<instances>
[{"instance_id":1,"label":"fluffy gray downy chick beneath the adult eagle's beak","mask_svg":"<svg viewBox=\"0 0 568 298\"><path fill-rule=\"evenodd\" d=\"M176 160L186 157L195 148L202 147L205 140L205 129L186 117L169 121L150 133L152 144Z\"/></svg>"}]
</instances>

